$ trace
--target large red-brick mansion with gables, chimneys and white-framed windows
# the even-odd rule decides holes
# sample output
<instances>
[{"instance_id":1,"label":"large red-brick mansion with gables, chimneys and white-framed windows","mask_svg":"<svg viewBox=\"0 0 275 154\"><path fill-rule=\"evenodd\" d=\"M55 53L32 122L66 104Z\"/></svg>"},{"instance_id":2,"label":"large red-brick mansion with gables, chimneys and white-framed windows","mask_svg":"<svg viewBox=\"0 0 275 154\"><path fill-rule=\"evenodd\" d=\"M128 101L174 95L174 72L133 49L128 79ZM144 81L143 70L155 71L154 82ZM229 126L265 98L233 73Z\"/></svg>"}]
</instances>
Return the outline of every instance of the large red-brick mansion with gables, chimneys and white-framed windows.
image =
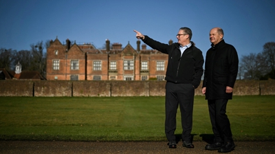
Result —
<instances>
[{"instance_id":1,"label":"large red-brick mansion with gables, chimneys and white-framed windows","mask_svg":"<svg viewBox=\"0 0 275 154\"><path fill-rule=\"evenodd\" d=\"M169 41L173 43L173 41ZM63 45L57 38L47 48L47 80L164 80L168 55L146 50L137 40L137 50L129 43L106 40L106 49L91 43Z\"/></svg>"}]
</instances>

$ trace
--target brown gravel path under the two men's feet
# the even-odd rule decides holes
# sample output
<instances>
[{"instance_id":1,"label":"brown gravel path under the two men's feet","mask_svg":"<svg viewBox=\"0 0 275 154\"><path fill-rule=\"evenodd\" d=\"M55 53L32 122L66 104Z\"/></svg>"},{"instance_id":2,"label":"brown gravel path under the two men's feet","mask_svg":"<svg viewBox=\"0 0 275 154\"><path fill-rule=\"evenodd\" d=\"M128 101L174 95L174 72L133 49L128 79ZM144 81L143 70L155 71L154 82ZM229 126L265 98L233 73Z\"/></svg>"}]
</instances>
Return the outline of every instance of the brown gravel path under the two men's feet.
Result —
<instances>
[{"instance_id":1,"label":"brown gravel path under the two men's feet","mask_svg":"<svg viewBox=\"0 0 275 154\"><path fill-rule=\"evenodd\" d=\"M206 142L195 148L168 148L167 142L25 142L0 141L0 153L218 153L206 151ZM275 153L275 142L235 142L231 153Z\"/></svg>"}]
</instances>

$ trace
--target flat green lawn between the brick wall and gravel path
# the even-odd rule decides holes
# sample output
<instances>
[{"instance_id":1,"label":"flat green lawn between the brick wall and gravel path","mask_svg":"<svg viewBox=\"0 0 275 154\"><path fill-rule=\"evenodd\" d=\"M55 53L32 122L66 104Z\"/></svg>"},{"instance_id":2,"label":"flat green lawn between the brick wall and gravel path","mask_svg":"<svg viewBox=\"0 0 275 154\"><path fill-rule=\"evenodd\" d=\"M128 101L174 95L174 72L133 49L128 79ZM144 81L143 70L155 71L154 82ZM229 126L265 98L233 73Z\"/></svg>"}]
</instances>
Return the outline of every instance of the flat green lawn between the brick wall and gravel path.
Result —
<instances>
[{"instance_id":1,"label":"flat green lawn between the brick wall and gravel path","mask_svg":"<svg viewBox=\"0 0 275 154\"><path fill-rule=\"evenodd\" d=\"M275 96L234 96L227 111L234 140L275 141ZM0 140L165 141L164 118L164 97L0 97ZM195 96L194 140L211 134Z\"/></svg>"}]
</instances>

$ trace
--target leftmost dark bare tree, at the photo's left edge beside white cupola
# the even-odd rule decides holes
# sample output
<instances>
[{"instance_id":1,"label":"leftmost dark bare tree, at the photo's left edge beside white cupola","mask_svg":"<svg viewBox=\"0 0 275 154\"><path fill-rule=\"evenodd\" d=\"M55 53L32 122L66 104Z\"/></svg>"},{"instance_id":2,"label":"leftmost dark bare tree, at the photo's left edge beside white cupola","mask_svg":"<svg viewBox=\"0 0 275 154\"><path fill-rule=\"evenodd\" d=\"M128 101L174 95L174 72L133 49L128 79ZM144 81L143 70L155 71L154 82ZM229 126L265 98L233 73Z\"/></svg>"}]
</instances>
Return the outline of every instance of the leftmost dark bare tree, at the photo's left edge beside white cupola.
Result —
<instances>
[{"instance_id":1,"label":"leftmost dark bare tree, at the photo's left edge beside white cupola","mask_svg":"<svg viewBox=\"0 0 275 154\"><path fill-rule=\"evenodd\" d=\"M12 69L13 62L14 62L14 55L17 51L16 50L6 50L5 48L0 49L0 68L5 69Z\"/></svg>"}]
</instances>

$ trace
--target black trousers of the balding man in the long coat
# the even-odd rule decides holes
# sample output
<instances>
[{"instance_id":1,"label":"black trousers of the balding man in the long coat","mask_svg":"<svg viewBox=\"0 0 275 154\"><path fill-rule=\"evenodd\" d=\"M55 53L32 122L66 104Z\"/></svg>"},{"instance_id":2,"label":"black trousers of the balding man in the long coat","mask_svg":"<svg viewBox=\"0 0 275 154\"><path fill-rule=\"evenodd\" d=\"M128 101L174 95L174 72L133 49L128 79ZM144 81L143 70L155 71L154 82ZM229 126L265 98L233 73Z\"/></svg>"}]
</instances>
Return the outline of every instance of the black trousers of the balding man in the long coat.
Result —
<instances>
[{"instance_id":1,"label":"black trousers of the balding man in the long coat","mask_svg":"<svg viewBox=\"0 0 275 154\"><path fill-rule=\"evenodd\" d=\"M228 100L208 100L214 142L233 142L230 121L226 115Z\"/></svg>"}]
</instances>

